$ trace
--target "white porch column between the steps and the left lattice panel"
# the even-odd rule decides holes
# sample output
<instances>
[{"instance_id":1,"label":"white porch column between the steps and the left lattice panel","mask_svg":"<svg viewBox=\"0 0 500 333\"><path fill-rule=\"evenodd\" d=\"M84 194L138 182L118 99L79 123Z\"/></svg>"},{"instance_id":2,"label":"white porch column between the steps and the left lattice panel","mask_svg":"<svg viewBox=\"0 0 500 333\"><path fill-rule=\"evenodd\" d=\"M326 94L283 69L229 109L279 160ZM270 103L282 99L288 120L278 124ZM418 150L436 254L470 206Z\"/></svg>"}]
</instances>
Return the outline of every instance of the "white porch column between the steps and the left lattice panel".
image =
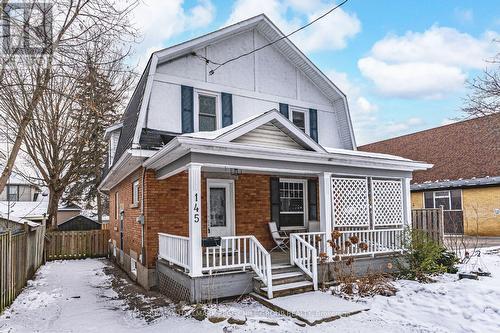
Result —
<instances>
[{"instance_id":1,"label":"white porch column between the steps and the left lattice panel","mask_svg":"<svg viewBox=\"0 0 500 333\"><path fill-rule=\"evenodd\" d=\"M319 225L320 230L326 234L325 245L326 254L329 258L333 255L333 249L328 245L332 239L332 173L323 172L318 177L319 180Z\"/></svg>"}]
</instances>

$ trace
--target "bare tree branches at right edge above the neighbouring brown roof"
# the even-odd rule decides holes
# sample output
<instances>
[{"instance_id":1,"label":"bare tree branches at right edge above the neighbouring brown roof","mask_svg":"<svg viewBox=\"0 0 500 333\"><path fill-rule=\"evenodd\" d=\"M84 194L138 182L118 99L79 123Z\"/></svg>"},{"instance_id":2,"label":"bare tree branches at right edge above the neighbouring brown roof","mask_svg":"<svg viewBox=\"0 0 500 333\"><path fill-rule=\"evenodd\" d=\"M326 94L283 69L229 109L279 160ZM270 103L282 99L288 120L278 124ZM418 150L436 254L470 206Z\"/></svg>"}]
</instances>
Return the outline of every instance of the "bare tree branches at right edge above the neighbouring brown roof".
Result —
<instances>
[{"instance_id":1,"label":"bare tree branches at right edge above the neighbouring brown roof","mask_svg":"<svg viewBox=\"0 0 500 333\"><path fill-rule=\"evenodd\" d=\"M500 41L494 41L500 43ZM500 54L488 61L489 67L469 82L472 92L463 107L469 116L481 117L500 113Z\"/></svg>"}]
</instances>

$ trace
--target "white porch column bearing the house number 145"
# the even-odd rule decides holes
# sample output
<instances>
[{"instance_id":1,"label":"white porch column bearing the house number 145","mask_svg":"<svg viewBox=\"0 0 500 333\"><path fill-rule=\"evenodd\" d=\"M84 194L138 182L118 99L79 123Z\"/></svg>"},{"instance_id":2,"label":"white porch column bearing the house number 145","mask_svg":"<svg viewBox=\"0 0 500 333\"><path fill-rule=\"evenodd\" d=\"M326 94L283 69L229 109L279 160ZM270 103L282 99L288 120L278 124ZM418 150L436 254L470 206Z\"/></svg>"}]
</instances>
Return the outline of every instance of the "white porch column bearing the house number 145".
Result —
<instances>
[{"instance_id":1,"label":"white porch column bearing the house number 145","mask_svg":"<svg viewBox=\"0 0 500 333\"><path fill-rule=\"evenodd\" d=\"M190 276L201 276L201 164L188 165Z\"/></svg>"}]
</instances>

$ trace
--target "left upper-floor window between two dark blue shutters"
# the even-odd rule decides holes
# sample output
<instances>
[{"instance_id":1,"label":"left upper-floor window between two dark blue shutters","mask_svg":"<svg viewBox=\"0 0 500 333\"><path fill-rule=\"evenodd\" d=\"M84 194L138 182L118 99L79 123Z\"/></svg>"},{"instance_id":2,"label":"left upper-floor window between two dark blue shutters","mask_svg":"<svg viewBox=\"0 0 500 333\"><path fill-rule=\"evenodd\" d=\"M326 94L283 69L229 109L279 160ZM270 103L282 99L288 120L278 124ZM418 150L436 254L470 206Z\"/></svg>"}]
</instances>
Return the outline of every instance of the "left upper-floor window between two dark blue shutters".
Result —
<instances>
[{"instance_id":1,"label":"left upper-floor window between two dark blue shutters","mask_svg":"<svg viewBox=\"0 0 500 333\"><path fill-rule=\"evenodd\" d=\"M219 128L219 95L208 92L196 93L197 108L195 123L198 128L195 131L215 131Z\"/></svg>"}]
</instances>

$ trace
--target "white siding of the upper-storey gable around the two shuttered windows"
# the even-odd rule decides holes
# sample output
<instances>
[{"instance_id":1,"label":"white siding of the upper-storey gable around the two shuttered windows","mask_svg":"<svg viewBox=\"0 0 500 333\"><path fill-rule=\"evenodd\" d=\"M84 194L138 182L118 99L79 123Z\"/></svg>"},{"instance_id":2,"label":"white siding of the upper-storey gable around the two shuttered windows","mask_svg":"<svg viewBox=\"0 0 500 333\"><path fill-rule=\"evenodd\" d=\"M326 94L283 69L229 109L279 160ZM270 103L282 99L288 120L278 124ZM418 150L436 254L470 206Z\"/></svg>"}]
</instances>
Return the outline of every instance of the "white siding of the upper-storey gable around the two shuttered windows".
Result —
<instances>
[{"instance_id":1,"label":"white siding of the upper-storey gable around the two shuttered windows","mask_svg":"<svg viewBox=\"0 0 500 333\"><path fill-rule=\"evenodd\" d=\"M247 31L197 50L221 62L267 43L257 30ZM160 64L154 78L145 126L151 129L181 132L181 85L214 93L233 95L233 121L238 122L256 113L279 109L279 103L318 110L319 143L344 148L339 123L345 117L343 106L330 100L275 47L267 47L220 68L208 75L210 68L197 57L186 55ZM339 97L339 100L341 98ZM339 107L342 110L339 110ZM344 125L345 126L345 125ZM345 134L344 134L345 136Z\"/></svg>"}]
</instances>

